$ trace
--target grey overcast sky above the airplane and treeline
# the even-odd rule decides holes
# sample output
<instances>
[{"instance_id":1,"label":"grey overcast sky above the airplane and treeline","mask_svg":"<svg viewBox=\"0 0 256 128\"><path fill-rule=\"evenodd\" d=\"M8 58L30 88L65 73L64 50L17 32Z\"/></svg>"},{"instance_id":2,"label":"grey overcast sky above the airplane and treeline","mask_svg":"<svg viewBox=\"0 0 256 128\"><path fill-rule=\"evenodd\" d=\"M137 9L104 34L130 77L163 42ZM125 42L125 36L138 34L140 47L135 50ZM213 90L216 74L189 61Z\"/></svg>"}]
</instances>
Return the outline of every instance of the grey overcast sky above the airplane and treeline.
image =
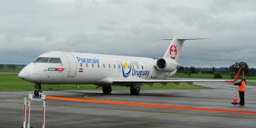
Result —
<instances>
[{"instance_id":1,"label":"grey overcast sky above the airplane and treeline","mask_svg":"<svg viewBox=\"0 0 256 128\"><path fill-rule=\"evenodd\" d=\"M186 40L184 67L256 68L256 1L13 0L0 3L0 63L28 64L47 51L162 57Z\"/></svg>"}]
</instances>

